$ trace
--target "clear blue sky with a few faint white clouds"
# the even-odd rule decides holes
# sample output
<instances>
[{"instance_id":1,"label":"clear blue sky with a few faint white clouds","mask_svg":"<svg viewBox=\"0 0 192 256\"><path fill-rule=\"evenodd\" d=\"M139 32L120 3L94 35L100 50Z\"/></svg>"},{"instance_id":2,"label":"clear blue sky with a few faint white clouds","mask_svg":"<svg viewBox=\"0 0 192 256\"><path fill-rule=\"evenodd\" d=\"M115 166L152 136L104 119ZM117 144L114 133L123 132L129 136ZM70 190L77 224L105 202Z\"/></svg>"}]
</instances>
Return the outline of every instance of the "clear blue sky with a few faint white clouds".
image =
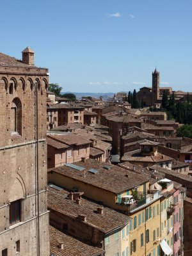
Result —
<instances>
[{"instance_id":1,"label":"clear blue sky with a few faint white clouds","mask_svg":"<svg viewBox=\"0 0 192 256\"><path fill-rule=\"evenodd\" d=\"M191 0L1 0L0 52L49 68L62 92L192 92Z\"/></svg>"}]
</instances>

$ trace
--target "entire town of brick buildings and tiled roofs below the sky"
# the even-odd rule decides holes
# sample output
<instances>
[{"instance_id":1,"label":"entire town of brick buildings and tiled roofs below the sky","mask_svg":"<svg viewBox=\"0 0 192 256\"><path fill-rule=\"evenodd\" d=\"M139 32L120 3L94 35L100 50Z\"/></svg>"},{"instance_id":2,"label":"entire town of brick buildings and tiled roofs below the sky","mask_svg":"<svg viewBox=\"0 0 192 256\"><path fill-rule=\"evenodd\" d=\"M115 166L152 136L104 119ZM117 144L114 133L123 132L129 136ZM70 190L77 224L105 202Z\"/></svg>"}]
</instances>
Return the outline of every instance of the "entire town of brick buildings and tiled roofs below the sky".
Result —
<instances>
[{"instance_id":1,"label":"entire town of brick buildings and tiled roofs below the sky","mask_svg":"<svg viewBox=\"0 0 192 256\"><path fill-rule=\"evenodd\" d=\"M162 102L192 93L159 82L71 100L30 47L0 53L2 256L191 255L192 138Z\"/></svg>"}]
</instances>

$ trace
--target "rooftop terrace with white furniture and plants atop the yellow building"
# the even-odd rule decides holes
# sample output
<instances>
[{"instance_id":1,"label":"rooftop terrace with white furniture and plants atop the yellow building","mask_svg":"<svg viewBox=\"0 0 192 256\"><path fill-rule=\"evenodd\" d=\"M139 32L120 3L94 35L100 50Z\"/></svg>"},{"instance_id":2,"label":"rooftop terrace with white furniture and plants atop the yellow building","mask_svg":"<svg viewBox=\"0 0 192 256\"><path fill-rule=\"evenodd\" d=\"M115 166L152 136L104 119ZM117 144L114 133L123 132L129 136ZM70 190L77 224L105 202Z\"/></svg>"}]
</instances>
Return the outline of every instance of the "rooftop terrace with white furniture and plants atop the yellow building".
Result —
<instances>
[{"instance_id":1,"label":"rooftop terrace with white furniture and plants atop the yellow building","mask_svg":"<svg viewBox=\"0 0 192 256\"><path fill-rule=\"evenodd\" d=\"M143 192L133 192L133 195L123 196L122 198L117 198L115 204L122 205L122 207L128 207L129 211L134 211L139 207L143 207L150 202L156 200L161 196L161 191L156 189L149 189L148 194L145 195Z\"/></svg>"}]
</instances>

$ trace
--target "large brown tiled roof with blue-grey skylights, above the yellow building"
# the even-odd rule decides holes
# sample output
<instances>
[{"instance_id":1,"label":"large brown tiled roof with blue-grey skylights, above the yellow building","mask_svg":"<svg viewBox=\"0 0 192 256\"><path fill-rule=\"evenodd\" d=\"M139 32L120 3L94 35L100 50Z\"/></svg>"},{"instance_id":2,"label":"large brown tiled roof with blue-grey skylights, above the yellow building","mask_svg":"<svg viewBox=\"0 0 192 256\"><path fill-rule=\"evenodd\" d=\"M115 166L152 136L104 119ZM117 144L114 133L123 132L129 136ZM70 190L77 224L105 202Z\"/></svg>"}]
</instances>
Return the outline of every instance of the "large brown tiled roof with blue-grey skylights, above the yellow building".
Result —
<instances>
[{"instance_id":1,"label":"large brown tiled roof with blue-grey skylights, above the yellow building","mask_svg":"<svg viewBox=\"0 0 192 256\"><path fill-rule=\"evenodd\" d=\"M80 180L81 182L92 184L92 186L96 186L116 194L135 188L136 186L140 186L148 181L148 179L145 179L136 173L132 173L113 164L102 163L94 159L86 159L85 163L79 161L76 164L78 166L83 166L86 172L91 168L96 169L99 172L95 174L88 172L86 177L84 177L84 171L77 171L68 166L51 168L48 172L58 172L63 175L63 179L67 176L74 180ZM109 166L110 170L106 170L104 166ZM127 174L129 177L125 176Z\"/></svg>"}]
</instances>

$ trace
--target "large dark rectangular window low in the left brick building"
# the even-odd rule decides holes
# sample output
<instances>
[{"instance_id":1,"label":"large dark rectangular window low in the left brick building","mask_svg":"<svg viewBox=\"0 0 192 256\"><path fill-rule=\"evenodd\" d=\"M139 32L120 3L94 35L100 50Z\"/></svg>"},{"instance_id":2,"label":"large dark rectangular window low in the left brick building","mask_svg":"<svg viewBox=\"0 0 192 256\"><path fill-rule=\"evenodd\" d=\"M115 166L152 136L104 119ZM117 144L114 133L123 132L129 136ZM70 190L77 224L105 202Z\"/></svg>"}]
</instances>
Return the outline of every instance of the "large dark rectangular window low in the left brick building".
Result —
<instances>
[{"instance_id":1,"label":"large dark rectangular window low in the left brick building","mask_svg":"<svg viewBox=\"0 0 192 256\"><path fill-rule=\"evenodd\" d=\"M14 225L20 222L21 220L20 206L21 206L20 200L17 200L10 204L10 225Z\"/></svg>"}]
</instances>

